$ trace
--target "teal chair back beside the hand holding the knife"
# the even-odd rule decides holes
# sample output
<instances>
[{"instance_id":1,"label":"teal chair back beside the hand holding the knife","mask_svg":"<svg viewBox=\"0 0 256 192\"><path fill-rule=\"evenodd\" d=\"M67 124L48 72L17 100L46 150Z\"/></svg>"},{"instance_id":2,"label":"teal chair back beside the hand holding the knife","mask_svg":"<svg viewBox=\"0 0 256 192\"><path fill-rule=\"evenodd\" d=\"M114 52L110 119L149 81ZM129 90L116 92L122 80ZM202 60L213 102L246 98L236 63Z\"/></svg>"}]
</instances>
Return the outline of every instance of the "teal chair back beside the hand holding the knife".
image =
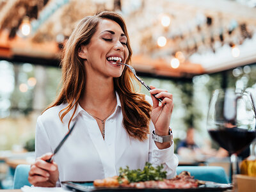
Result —
<instances>
[{"instance_id":1,"label":"teal chair back beside the hand holding the knife","mask_svg":"<svg viewBox=\"0 0 256 192\"><path fill-rule=\"evenodd\" d=\"M31 186L28 181L28 172L30 170L29 164L19 164L13 177L13 189L20 189L23 186Z\"/></svg>"}]
</instances>

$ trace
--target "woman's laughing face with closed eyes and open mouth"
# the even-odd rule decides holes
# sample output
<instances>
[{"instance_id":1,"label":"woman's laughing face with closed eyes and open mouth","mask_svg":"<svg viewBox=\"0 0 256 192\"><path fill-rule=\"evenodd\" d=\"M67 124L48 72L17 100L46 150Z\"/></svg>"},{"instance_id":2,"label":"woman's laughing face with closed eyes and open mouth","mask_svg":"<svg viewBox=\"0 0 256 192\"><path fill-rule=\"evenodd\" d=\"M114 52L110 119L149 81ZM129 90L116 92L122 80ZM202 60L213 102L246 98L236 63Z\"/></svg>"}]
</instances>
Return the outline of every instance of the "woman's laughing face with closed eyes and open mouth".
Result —
<instances>
[{"instance_id":1,"label":"woman's laughing face with closed eyes and open mouth","mask_svg":"<svg viewBox=\"0 0 256 192\"><path fill-rule=\"evenodd\" d=\"M100 20L90 44L81 47L86 56L84 62L86 73L93 72L95 75L120 77L124 65L116 64L115 60L126 62L129 55L126 44L127 37L116 22L109 19Z\"/></svg>"}]
</instances>

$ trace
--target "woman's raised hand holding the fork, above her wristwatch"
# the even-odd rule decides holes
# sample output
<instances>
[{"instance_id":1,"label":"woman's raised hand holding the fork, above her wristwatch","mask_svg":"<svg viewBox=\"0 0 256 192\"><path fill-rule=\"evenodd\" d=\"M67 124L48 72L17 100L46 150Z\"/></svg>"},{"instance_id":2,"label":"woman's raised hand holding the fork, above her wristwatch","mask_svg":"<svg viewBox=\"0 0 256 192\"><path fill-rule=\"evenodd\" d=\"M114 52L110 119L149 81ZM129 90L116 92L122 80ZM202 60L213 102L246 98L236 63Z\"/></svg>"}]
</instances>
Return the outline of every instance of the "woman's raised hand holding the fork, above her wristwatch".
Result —
<instances>
[{"instance_id":1,"label":"woman's raised hand holding the fork, above her wristwatch","mask_svg":"<svg viewBox=\"0 0 256 192\"><path fill-rule=\"evenodd\" d=\"M154 86L150 86L150 88L152 90L149 92L153 100L151 118L153 124L155 125L155 132L159 136L168 135L173 109L172 94L168 93L166 90L155 88ZM156 97L162 99L163 101L159 103L159 101L152 94L156 94Z\"/></svg>"}]
</instances>

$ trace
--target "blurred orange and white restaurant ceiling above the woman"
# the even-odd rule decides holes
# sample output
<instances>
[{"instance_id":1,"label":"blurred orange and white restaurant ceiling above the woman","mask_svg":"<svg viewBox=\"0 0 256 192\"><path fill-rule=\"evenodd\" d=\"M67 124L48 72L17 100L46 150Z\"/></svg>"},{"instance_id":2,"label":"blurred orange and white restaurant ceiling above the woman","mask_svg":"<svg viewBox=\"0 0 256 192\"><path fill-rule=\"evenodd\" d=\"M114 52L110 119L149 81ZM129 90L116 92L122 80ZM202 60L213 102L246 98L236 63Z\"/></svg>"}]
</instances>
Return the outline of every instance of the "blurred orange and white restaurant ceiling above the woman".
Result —
<instances>
[{"instance_id":1,"label":"blurred orange and white restaurant ceiling above the woman","mask_svg":"<svg viewBox=\"0 0 256 192\"><path fill-rule=\"evenodd\" d=\"M58 65L63 42L78 20L100 10L115 10L127 22L134 51L132 65L138 72L187 78L218 72L256 62L254 3L0 0L0 58ZM164 15L170 18L169 26L161 24ZM31 26L28 36L20 32L26 22ZM157 45L159 36L166 38L163 47ZM238 56L232 56L235 46ZM173 58L179 61L179 67L170 65Z\"/></svg>"}]
</instances>

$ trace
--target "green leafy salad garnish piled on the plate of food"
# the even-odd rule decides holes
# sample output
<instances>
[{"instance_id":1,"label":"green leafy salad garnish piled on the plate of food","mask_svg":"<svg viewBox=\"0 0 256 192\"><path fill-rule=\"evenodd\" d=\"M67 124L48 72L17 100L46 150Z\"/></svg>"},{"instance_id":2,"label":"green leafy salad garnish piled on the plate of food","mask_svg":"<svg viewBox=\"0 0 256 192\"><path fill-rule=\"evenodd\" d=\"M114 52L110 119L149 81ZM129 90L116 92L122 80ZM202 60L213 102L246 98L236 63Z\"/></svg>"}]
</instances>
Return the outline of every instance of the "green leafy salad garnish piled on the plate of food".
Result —
<instances>
[{"instance_id":1,"label":"green leafy salad garnish piled on the plate of food","mask_svg":"<svg viewBox=\"0 0 256 192\"><path fill-rule=\"evenodd\" d=\"M119 169L118 182L122 184L122 179L127 179L129 182L140 182L146 180L163 180L166 179L166 172L163 170L163 164L156 168L150 163L146 163L143 170L130 170L129 166Z\"/></svg>"}]
</instances>

